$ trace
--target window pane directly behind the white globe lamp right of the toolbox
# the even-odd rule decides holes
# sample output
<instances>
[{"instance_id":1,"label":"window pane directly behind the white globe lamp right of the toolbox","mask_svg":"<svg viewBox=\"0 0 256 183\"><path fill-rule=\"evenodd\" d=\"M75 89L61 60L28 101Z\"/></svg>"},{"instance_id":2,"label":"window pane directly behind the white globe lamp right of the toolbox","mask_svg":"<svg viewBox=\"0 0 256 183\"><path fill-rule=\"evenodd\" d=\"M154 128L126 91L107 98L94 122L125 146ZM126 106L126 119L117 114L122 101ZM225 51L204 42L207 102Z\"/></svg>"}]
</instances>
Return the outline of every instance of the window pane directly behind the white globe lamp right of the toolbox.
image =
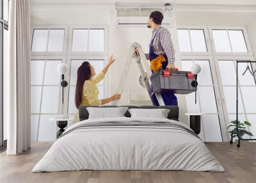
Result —
<instances>
[{"instance_id":1,"label":"window pane directly behind the white globe lamp right of the toolbox","mask_svg":"<svg viewBox=\"0 0 256 183\"><path fill-rule=\"evenodd\" d=\"M209 60L195 60L200 65L201 71L198 74L198 85L212 85L212 74Z\"/></svg>"}]
</instances>

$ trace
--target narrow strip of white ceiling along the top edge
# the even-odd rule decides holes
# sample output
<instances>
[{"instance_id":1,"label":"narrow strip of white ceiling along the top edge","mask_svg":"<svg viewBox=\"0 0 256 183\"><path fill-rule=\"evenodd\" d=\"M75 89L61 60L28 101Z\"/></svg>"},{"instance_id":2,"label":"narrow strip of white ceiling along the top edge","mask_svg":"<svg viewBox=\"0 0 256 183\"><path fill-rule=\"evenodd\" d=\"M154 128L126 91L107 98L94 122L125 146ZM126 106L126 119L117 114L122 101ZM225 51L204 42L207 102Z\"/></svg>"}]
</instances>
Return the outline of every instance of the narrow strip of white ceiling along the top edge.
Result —
<instances>
[{"instance_id":1,"label":"narrow strip of white ceiling along the top edge","mask_svg":"<svg viewBox=\"0 0 256 183\"><path fill-rule=\"evenodd\" d=\"M30 0L33 4L114 4L118 2L131 2L129 0ZM132 2L140 3L168 3L171 1L161 1L161 0L132 0ZM205 5L246 5L252 6L256 5L256 0L175 0L176 4L205 4Z\"/></svg>"}]
</instances>

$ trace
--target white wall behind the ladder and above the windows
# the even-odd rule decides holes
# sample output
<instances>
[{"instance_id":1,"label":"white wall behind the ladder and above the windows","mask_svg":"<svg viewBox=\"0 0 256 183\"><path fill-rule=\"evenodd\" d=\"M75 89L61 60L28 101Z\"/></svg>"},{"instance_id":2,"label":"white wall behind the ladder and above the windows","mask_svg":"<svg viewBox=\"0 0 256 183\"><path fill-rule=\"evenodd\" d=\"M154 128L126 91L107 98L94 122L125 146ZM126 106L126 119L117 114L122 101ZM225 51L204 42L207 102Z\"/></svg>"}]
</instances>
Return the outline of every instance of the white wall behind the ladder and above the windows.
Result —
<instances>
[{"instance_id":1,"label":"white wall behind the ladder and above the windows","mask_svg":"<svg viewBox=\"0 0 256 183\"><path fill-rule=\"evenodd\" d=\"M254 51L256 53L256 17L255 12L230 12L229 7L220 8L214 6L214 10L209 11L209 7L193 6L184 8L177 6L176 20L178 26L248 26L248 33L252 38ZM200 11L196 11L199 8ZM225 10L227 8L227 10ZM238 8L239 9L239 8ZM144 51L148 51L148 42L151 32L148 28L116 28L114 22L114 8L112 5L93 4L31 4L31 24L32 25L108 25L109 26L109 54L113 53L116 63L110 70L109 93L115 93L122 69L125 67L127 53L133 42L142 45ZM254 22L253 22L254 21ZM176 45L177 47L177 45ZM179 65L179 63L177 63ZM136 63L132 64L129 72L129 80L125 84L121 104L127 104L127 91L131 91L132 100L148 100L146 90L138 84L140 73ZM179 97L180 120L188 122L184 115L186 112L186 101L184 97Z\"/></svg>"}]
</instances>

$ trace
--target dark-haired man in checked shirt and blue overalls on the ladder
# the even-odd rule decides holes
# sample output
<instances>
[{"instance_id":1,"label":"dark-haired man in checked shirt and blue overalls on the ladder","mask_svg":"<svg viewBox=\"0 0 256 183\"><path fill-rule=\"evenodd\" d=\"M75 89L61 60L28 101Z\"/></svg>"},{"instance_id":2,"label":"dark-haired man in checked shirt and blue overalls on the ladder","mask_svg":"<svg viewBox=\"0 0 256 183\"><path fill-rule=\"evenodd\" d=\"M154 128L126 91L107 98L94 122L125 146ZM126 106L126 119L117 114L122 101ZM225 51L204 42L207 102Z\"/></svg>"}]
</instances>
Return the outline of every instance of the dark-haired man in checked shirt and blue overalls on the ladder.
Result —
<instances>
[{"instance_id":1,"label":"dark-haired man in checked shirt and blue overalls on the ladder","mask_svg":"<svg viewBox=\"0 0 256 183\"><path fill-rule=\"evenodd\" d=\"M171 70L174 66L174 48L170 31L161 26L163 20L161 12L152 12L148 19L148 28L152 29L152 38L149 44L149 53L145 54L147 60L150 60L150 68L152 72L159 69ZM139 56L137 49L134 49L134 54ZM177 97L172 91L161 93L166 106L177 106ZM154 106L159 106L156 95L152 96Z\"/></svg>"}]
</instances>

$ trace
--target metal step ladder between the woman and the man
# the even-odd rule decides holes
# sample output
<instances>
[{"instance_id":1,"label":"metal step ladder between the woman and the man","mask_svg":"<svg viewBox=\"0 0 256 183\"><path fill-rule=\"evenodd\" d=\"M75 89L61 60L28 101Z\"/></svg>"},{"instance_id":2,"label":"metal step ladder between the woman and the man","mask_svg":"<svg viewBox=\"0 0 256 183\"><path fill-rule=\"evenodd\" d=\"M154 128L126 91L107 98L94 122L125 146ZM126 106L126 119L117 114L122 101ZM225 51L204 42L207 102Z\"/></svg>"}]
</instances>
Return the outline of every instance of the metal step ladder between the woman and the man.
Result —
<instances>
[{"instance_id":1,"label":"metal step ladder between the woman and the man","mask_svg":"<svg viewBox=\"0 0 256 183\"><path fill-rule=\"evenodd\" d=\"M134 49L135 48L140 53L140 56L137 56L136 54L134 54ZM141 73L141 77L143 78L143 82L144 82L144 84L147 88L147 92L148 92L148 95L150 97L150 100L152 101L152 104L154 104L152 96L155 94L156 98L157 98L157 101L159 103L159 106L165 106L162 95L160 93L152 92L151 81L150 81L150 76L152 75L152 72L151 72L151 69L150 69L150 65L149 65L149 62L148 62L148 60L145 56L145 53L143 52L143 49L142 49L141 45L136 43L136 42L134 44L132 44L131 47L130 47L128 58L127 58L127 63L125 64L124 70L122 72L122 77L121 77L121 79L118 83L116 93L121 94L123 92L125 81L127 79L128 72L130 70L132 61L136 61L136 63L138 64L138 67L139 67L140 73ZM118 100L115 100L113 102L113 105L117 106L118 105Z\"/></svg>"}]
</instances>

